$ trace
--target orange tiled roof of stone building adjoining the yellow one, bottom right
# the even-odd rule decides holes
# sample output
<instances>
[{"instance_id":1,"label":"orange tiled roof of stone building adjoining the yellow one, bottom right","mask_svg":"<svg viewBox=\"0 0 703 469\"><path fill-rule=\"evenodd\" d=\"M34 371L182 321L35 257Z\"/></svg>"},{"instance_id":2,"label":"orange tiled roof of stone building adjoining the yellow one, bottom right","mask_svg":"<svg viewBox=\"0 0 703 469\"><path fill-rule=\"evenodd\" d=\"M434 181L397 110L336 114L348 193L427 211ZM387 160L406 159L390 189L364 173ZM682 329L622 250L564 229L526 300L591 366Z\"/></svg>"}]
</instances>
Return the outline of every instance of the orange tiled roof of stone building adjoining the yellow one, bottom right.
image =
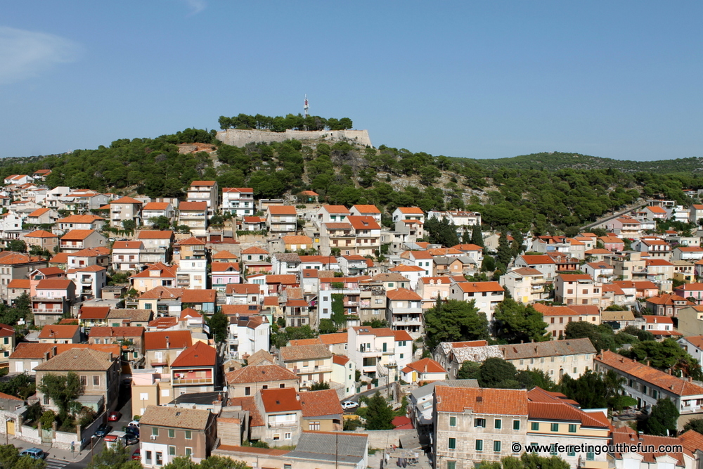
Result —
<instances>
[{"instance_id":1,"label":"orange tiled roof of stone building adjoining the yellow one, bottom right","mask_svg":"<svg viewBox=\"0 0 703 469\"><path fill-rule=\"evenodd\" d=\"M527 390L438 386L434 388L434 409L439 412L487 413L527 416Z\"/></svg>"}]
</instances>

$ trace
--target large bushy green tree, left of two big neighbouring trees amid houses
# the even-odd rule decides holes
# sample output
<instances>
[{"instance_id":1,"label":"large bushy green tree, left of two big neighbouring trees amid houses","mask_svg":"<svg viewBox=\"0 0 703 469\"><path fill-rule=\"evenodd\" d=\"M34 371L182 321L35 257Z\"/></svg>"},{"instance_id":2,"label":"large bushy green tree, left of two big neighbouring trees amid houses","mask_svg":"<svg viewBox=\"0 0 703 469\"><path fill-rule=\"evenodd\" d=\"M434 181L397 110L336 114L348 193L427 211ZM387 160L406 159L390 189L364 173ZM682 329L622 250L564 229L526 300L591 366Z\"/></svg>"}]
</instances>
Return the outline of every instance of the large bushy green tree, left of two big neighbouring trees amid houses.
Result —
<instances>
[{"instance_id":1,"label":"large bushy green tree, left of two big neighbouring trees amid houses","mask_svg":"<svg viewBox=\"0 0 703 469\"><path fill-rule=\"evenodd\" d=\"M425 342L429 349L434 349L440 342L460 340L487 340L488 319L479 313L474 300L437 300L433 308L425 312Z\"/></svg>"}]
</instances>

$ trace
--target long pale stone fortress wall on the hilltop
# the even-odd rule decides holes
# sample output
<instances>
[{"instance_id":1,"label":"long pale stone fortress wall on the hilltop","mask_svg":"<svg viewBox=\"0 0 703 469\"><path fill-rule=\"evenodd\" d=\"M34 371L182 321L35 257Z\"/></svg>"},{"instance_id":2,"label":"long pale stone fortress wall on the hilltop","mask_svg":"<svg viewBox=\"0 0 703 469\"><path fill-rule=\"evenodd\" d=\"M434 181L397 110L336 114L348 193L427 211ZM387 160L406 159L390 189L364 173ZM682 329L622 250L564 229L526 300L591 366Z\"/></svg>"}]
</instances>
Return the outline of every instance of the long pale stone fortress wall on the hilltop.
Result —
<instances>
[{"instance_id":1,"label":"long pale stone fortress wall on the hilltop","mask_svg":"<svg viewBox=\"0 0 703 469\"><path fill-rule=\"evenodd\" d=\"M347 141L361 146L370 146L368 130L290 130L272 132L268 130L226 129L217 132L217 139L232 146L245 146L247 143L296 140L326 140L330 142Z\"/></svg>"}]
</instances>

